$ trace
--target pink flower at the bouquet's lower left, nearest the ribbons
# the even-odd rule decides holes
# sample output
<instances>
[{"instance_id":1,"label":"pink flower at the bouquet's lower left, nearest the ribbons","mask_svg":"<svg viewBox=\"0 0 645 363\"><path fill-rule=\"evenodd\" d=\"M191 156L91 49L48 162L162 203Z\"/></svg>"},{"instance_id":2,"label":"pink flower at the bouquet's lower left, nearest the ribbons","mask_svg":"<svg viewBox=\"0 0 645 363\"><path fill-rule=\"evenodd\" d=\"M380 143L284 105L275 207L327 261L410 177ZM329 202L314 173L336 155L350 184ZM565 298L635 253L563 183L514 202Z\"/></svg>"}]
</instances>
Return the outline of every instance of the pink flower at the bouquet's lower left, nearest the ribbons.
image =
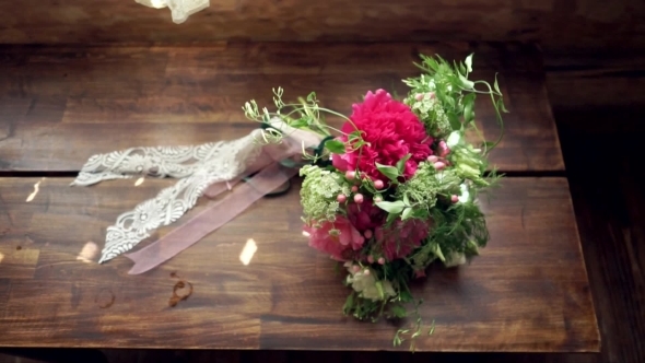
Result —
<instances>
[{"instance_id":1,"label":"pink flower at the bouquet's lower left, nearest the ribbons","mask_svg":"<svg viewBox=\"0 0 645 363\"><path fill-rule=\"evenodd\" d=\"M331 255L337 260L350 259L352 250L363 247L365 237L344 216L337 216L336 222L325 222L320 227L305 225L309 234L309 246ZM330 234L331 230L338 230Z\"/></svg>"}]
</instances>

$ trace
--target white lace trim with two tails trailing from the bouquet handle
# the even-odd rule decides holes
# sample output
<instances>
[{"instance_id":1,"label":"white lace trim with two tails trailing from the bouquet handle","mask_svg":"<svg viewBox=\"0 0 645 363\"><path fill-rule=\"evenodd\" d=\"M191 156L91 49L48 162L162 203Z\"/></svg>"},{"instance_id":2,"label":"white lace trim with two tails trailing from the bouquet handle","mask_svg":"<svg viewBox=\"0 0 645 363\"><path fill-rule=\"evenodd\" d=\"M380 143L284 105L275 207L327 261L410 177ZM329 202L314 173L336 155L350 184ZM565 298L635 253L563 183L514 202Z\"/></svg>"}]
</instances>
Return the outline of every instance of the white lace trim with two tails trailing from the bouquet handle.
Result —
<instances>
[{"instance_id":1,"label":"white lace trim with two tails trailing from the bouquet handle","mask_svg":"<svg viewBox=\"0 0 645 363\"><path fill-rule=\"evenodd\" d=\"M134 175L180 178L155 198L118 216L116 224L107 229L99 262L132 249L150 237L150 231L178 220L209 185L242 174L261 153L262 147L256 142L258 132L197 147L132 148L92 156L72 185L89 186Z\"/></svg>"}]
</instances>

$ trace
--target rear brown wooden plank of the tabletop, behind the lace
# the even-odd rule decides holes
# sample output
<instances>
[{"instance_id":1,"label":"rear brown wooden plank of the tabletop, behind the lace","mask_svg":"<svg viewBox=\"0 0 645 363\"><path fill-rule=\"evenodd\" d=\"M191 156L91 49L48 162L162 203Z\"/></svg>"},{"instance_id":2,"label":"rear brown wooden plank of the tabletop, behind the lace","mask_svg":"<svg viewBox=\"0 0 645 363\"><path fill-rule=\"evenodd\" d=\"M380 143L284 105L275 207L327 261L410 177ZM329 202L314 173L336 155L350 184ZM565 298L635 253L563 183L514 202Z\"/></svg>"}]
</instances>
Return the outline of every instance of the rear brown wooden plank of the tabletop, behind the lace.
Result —
<instances>
[{"instance_id":1,"label":"rear brown wooden plank of the tabletop, behind the lace","mask_svg":"<svg viewBox=\"0 0 645 363\"><path fill-rule=\"evenodd\" d=\"M0 60L0 171L78 171L93 154L242 137L257 127L242 106L270 106L271 89L294 99L316 91L349 114L367 90L406 93L419 52L462 59L476 78L499 71L506 137L491 154L502 171L563 171L535 48L437 44L221 44L204 47L9 47ZM500 129L478 97L488 139ZM333 119L330 119L333 122Z\"/></svg>"}]
</instances>

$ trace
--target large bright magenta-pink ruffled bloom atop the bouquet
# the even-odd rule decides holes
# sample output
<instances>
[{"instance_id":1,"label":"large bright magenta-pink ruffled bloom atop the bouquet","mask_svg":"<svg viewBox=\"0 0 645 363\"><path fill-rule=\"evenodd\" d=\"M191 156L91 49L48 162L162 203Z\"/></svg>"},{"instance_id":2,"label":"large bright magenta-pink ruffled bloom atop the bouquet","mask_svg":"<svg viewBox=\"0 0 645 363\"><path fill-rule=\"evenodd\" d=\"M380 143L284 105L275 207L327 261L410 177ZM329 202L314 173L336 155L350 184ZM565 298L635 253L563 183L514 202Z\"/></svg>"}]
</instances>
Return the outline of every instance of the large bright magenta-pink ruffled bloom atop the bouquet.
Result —
<instances>
[{"instance_id":1,"label":"large bright magenta-pink ruffled bloom atop the bouquet","mask_svg":"<svg viewBox=\"0 0 645 363\"><path fill-rule=\"evenodd\" d=\"M410 107L391 98L389 93L378 90L367 92L362 104L353 105L350 116L352 122L362 131L362 138L367 144L360 151L345 152L333 155L332 163L342 172L365 172L372 179L387 179L376 168L376 163L396 165L407 154L412 156L406 162L403 176L414 175L420 162L432 154L430 145L433 140L425 132L423 124ZM352 122L342 126L345 134L355 131ZM347 136L340 137L343 142Z\"/></svg>"}]
</instances>

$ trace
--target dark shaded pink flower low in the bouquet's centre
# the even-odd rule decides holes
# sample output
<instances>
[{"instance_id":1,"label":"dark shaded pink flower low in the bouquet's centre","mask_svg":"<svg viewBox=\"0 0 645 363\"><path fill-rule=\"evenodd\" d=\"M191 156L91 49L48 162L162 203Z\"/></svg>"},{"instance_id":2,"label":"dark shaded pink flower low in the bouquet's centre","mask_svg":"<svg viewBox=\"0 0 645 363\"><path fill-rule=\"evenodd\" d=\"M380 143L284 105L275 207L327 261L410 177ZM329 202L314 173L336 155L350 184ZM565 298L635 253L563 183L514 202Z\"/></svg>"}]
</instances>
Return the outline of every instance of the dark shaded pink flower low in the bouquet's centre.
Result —
<instances>
[{"instance_id":1,"label":"dark shaded pink flower low in the bouquet's centre","mask_svg":"<svg viewBox=\"0 0 645 363\"><path fill-rule=\"evenodd\" d=\"M395 222L387 230L377 229L376 241L382 244L383 255L391 261L408 256L427 237L430 225L418 220Z\"/></svg>"}]
</instances>

